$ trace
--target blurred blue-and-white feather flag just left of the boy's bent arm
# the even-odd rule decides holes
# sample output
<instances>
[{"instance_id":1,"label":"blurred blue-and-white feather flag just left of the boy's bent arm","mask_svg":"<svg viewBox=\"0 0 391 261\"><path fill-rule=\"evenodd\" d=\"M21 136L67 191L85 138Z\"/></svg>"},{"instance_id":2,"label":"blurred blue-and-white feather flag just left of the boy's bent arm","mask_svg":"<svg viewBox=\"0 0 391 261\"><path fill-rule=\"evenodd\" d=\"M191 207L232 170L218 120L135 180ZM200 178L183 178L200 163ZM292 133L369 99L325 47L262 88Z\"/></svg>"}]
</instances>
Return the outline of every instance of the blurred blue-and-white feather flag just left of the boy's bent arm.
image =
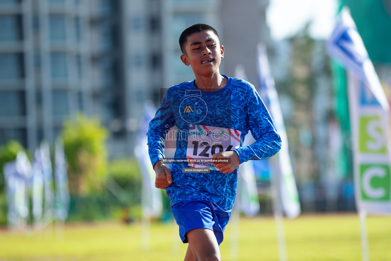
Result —
<instances>
[{"instance_id":1,"label":"blurred blue-and-white feather flag just left of the boy's bent arm","mask_svg":"<svg viewBox=\"0 0 391 261\"><path fill-rule=\"evenodd\" d=\"M160 189L155 187L156 174L151 165L148 154L148 124L156 113L152 102L144 105L144 114L140 122L140 132L135 146L135 156L143 177L142 211L145 217L158 217L163 210L163 202Z\"/></svg>"}]
</instances>

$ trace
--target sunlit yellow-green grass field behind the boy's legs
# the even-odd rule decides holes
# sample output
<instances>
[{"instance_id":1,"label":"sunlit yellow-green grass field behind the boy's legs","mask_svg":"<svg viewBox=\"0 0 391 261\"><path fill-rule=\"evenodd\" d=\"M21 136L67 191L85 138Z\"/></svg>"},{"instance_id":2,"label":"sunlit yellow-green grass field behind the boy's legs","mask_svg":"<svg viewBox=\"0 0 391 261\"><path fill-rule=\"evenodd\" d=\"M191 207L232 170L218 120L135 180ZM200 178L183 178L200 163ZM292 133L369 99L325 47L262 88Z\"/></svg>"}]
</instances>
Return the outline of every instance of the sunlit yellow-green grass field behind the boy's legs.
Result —
<instances>
[{"instance_id":1,"label":"sunlit yellow-green grass field behind the boy's legs","mask_svg":"<svg viewBox=\"0 0 391 261\"><path fill-rule=\"evenodd\" d=\"M289 261L361 261L355 214L302 215L284 223ZM369 216L367 226L371 261L391 261L391 218ZM181 243L173 223L152 223L149 252L141 251L141 233L140 223L113 222L67 224L63 240L50 238L48 231L27 236L0 230L0 260L183 260L187 244ZM278 260L272 217L241 218L239 233L239 257L235 260ZM228 224L220 246L222 260L232 260L230 234Z\"/></svg>"}]
</instances>

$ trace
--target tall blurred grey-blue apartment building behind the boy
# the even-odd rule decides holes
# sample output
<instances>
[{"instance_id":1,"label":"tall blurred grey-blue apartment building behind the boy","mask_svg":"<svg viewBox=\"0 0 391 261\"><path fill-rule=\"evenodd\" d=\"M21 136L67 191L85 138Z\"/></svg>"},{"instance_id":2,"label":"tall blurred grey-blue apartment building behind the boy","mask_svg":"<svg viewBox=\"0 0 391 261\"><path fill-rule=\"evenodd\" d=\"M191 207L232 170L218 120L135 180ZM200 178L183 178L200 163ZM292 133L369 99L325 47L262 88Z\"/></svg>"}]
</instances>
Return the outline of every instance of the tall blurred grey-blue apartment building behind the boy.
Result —
<instances>
[{"instance_id":1,"label":"tall blurred grey-blue apartment building behind the boy","mask_svg":"<svg viewBox=\"0 0 391 261\"><path fill-rule=\"evenodd\" d=\"M110 157L132 155L144 102L158 106L161 88L194 79L178 44L194 23L212 25L236 49L226 51L222 74L246 64L256 84L268 0L241 2L0 0L0 145L16 139L34 149L82 111L108 128ZM247 41L238 48L239 38Z\"/></svg>"}]
</instances>

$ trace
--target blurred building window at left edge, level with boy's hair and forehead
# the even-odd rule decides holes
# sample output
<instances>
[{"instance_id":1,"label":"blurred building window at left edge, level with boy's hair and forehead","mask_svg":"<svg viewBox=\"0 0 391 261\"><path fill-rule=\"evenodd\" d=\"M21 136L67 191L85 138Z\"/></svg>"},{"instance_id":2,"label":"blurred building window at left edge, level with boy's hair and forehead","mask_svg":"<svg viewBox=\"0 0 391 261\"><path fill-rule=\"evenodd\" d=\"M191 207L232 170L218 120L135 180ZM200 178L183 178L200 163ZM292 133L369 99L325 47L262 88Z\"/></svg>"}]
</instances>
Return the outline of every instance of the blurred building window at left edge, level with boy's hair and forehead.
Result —
<instances>
[{"instance_id":1,"label":"blurred building window at left edge, level with boy's hair and forehead","mask_svg":"<svg viewBox=\"0 0 391 261\"><path fill-rule=\"evenodd\" d=\"M0 16L0 41L22 40L22 18L20 15Z\"/></svg>"}]
</instances>

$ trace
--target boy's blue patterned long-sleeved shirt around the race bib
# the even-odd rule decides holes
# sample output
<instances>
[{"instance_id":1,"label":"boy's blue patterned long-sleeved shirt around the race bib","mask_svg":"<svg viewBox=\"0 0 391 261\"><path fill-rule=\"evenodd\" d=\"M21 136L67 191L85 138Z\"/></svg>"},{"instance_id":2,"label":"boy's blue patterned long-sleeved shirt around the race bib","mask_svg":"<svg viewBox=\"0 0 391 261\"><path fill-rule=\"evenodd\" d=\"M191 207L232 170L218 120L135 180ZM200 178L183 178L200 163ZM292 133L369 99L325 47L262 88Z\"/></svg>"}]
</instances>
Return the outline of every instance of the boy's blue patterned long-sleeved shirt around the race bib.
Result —
<instances>
[{"instance_id":1,"label":"boy's blue patterned long-sleeved shirt around the race bib","mask_svg":"<svg viewBox=\"0 0 391 261\"><path fill-rule=\"evenodd\" d=\"M189 96L192 94L201 95L202 101L197 102L200 106L192 109L194 113L183 113L189 100L195 104L194 99L199 99L199 96ZM174 125L179 130L174 157L186 158L186 133L191 123L241 131L240 148L235 150L240 163L269 158L281 148L281 139L269 112L251 83L228 78L224 88L201 92L194 86L194 81L187 81L167 90L155 117L149 122L147 135L152 166L160 158L164 158L167 132ZM256 141L242 147L244 136L249 130ZM210 173L183 173L183 167L190 166L185 163L172 165L172 184L166 189L171 205L183 200L198 199L212 202L221 211L232 210L238 168L231 173L222 174L212 169Z\"/></svg>"}]
</instances>

